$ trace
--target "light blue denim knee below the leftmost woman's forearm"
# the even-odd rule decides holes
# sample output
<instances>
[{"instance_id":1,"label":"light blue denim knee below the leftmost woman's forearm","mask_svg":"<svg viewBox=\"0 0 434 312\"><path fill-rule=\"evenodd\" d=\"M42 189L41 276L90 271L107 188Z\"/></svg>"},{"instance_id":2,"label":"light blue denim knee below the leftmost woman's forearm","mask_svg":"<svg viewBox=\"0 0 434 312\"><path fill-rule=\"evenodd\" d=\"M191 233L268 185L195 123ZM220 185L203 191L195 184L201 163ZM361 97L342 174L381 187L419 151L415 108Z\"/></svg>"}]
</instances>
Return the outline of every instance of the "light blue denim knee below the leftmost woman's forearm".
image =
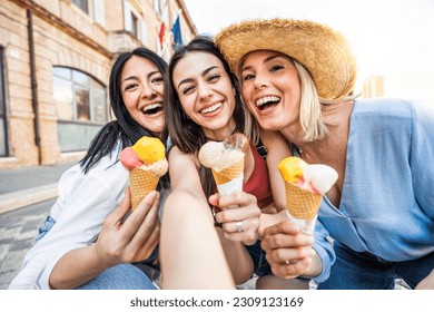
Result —
<instances>
[{"instance_id":1,"label":"light blue denim knee below the leftmost woman's forearm","mask_svg":"<svg viewBox=\"0 0 434 312\"><path fill-rule=\"evenodd\" d=\"M107 269L76 290L156 290L149 277L135 265L126 263Z\"/></svg>"}]
</instances>

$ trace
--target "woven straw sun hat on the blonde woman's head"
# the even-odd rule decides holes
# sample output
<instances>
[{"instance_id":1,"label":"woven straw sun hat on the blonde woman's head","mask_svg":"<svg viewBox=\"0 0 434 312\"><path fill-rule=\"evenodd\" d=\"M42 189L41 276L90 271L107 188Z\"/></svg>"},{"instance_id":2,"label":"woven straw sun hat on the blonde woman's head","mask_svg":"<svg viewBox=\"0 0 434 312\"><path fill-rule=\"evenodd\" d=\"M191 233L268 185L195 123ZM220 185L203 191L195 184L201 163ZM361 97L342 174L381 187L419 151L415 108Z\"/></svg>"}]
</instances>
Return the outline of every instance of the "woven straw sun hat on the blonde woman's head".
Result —
<instances>
[{"instance_id":1,"label":"woven straw sun hat on the blonde woman's head","mask_svg":"<svg viewBox=\"0 0 434 312\"><path fill-rule=\"evenodd\" d=\"M307 68L322 98L345 98L353 91L357 70L349 43L327 26L280 18L246 20L223 29L215 42L236 75L247 53L275 50Z\"/></svg>"}]
</instances>

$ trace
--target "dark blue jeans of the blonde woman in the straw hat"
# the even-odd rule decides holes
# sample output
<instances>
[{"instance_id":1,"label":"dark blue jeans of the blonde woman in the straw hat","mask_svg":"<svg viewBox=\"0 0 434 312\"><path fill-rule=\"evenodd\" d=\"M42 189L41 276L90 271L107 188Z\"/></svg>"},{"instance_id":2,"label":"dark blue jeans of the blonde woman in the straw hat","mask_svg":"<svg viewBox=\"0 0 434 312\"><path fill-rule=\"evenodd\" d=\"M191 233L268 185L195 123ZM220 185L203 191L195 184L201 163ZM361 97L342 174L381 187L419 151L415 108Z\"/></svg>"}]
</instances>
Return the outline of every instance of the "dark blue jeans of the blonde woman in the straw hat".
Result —
<instances>
[{"instance_id":1,"label":"dark blue jeans of the blonde woman in the straw hat","mask_svg":"<svg viewBox=\"0 0 434 312\"><path fill-rule=\"evenodd\" d=\"M371 253L357 253L334 242L336 262L318 290L393 290L395 279L414 289L434 269L434 253L421 259L391 262ZM398 252L398 251L397 251Z\"/></svg>"}]
</instances>

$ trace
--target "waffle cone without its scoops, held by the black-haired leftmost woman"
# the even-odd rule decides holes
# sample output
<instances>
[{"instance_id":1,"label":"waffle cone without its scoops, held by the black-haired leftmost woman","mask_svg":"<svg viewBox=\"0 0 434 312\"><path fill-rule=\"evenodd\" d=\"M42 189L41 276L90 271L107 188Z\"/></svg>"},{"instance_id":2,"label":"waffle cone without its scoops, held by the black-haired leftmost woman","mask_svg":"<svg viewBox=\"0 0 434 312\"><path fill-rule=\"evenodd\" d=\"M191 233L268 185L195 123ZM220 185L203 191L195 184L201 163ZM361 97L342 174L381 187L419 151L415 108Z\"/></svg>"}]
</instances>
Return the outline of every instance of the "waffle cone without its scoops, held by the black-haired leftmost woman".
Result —
<instances>
[{"instance_id":1,"label":"waffle cone without its scoops, held by the black-haired leftmost woman","mask_svg":"<svg viewBox=\"0 0 434 312\"><path fill-rule=\"evenodd\" d=\"M141 199L148 195L150 191L156 189L159 176L150 170L142 168L134 168L129 173L129 188L131 194L131 209L135 209Z\"/></svg>"}]
</instances>

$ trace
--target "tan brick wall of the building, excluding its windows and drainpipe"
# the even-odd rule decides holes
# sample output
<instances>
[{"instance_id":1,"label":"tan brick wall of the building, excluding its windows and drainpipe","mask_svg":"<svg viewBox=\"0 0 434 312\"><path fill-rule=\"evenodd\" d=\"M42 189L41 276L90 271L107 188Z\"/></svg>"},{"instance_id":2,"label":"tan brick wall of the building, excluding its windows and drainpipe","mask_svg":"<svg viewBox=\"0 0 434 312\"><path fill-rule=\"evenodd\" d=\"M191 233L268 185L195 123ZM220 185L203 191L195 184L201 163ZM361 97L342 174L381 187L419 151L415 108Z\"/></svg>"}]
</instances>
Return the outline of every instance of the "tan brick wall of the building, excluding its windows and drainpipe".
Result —
<instances>
[{"instance_id":1,"label":"tan brick wall of the building, excluding its windows and drainpipe","mask_svg":"<svg viewBox=\"0 0 434 312\"><path fill-rule=\"evenodd\" d=\"M125 29L125 3L129 1L145 19L146 39ZM183 9L187 36L195 27L184 1L168 0L166 9ZM91 3L92 1L89 1ZM112 57L119 49L137 46L159 51L158 35L164 19L154 10L152 0L105 0L105 21L95 21L71 0L4 0L0 2L0 47L4 51L6 115L8 157L0 157L0 169L57 164L82 157L82 153L61 153L57 111L53 101L53 66L73 68L92 76L107 87ZM29 17L33 36L36 81L31 81ZM170 31L167 29L167 31ZM170 55L165 53L167 59ZM33 96L36 94L36 97ZM37 108L33 99L37 99ZM38 116L39 123L34 123ZM39 129L39 147L36 137ZM71 159L72 158L72 159Z\"/></svg>"}]
</instances>

